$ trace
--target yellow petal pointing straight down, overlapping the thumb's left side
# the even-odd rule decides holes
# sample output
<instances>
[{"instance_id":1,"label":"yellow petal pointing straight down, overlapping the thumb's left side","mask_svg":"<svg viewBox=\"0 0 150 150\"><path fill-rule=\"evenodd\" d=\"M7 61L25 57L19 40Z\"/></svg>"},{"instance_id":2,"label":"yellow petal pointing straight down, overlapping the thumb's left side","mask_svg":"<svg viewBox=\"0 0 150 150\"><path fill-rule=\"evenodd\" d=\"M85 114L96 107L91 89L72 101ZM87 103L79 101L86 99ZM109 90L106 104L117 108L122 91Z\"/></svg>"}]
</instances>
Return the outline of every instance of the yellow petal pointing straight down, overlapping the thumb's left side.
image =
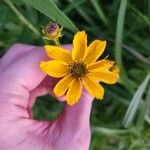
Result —
<instances>
[{"instance_id":1,"label":"yellow petal pointing straight down, overlapping the thumb's left side","mask_svg":"<svg viewBox=\"0 0 150 150\"><path fill-rule=\"evenodd\" d=\"M69 105L73 105L78 102L82 93L82 83L78 79L73 79L70 83L66 100Z\"/></svg>"}]
</instances>

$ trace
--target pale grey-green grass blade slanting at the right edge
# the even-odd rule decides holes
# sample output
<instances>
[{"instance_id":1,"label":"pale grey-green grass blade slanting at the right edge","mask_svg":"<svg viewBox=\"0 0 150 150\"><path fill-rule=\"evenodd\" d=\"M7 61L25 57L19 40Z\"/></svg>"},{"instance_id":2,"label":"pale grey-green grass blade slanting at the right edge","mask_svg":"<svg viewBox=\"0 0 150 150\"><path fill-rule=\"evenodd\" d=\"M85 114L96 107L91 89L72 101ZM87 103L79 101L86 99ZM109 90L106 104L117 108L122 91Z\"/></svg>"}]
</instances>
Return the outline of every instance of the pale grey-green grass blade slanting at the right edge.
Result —
<instances>
[{"instance_id":1,"label":"pale grey-green grass blade slanting at the right edge","mask_svg":"<svg viewBox=\"0 0 150 150\"><path fill-rule=\"evenodd\" d=\"M131 103L130 103L128 110L125 114L125 117L123 119L123 126L124 127L128 128L131 126L133 119L136 115L136 112L139 108L139 104L142 100L142 96L145 92L145 89L146 89L148 83L149 83L149 80L150 80L150 73L146 76L144 81L141 83L141 85L139 86L139 88L135 92L133 99L131 100Z\"/></svg>"}]
</instances>

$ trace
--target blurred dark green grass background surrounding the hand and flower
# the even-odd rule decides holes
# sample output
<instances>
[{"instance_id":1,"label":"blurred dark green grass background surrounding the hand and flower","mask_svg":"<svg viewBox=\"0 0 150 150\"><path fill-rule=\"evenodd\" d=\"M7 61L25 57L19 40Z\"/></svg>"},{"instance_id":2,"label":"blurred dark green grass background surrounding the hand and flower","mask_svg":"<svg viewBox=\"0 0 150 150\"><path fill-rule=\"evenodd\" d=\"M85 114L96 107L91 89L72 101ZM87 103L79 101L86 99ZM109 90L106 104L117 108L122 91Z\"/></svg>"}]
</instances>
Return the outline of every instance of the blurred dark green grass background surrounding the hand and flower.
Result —
<instances>
[{"instance_id":1,"label":"blurred dark green grass background surrounding the hand and flower","mask_svg":"<svg viewBox=\"0 0 150 150\"><path fill-rule=\"evenodd\" d=\"M36 31L41 32L41 25L45 25L49 18L22 0L12 0L12 4L33 26L34 31L14 14L6 1L0 1L0 55L18 42L43 45L41 36ZM54 2L79 30L87 31L89 42L97 38L107 40L106 55L109 54L111 59L116 59L123 71L117 85L104 85L104 100L93 102L90 149L149 150L149 79L146 80L144 91L140 89L140 85L144 83L150 70L150 1L128 0L127 4L124 0ZM57 20L59 21L59 18ZM64 28L61 43L70 43L72 38L73 32ZM136 100L138 98L133 98L135 93L141 94L139 103ZM130 118L133 115L133 109L127 114L127 110L131 108L130 104L133 109L137 106L137 109L130 120L131 125L125 126L124 117ZM38 98L33 110L36 119L55 119L63 110L63 104L45 96ZM139 123L143 121L144 124Z\"/></svg>"}]
</instances>

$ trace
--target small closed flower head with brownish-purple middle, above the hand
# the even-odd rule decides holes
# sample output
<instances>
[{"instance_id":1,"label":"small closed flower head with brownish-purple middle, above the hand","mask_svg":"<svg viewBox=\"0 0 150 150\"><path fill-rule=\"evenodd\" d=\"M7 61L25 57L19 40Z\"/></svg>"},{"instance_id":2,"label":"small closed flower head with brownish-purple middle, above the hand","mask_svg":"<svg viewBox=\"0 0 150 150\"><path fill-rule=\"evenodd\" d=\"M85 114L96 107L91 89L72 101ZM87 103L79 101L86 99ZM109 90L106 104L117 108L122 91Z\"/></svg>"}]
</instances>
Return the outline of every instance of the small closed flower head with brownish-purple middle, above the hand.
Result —
<instances>
[{"instance_id":1,"label":"small closed flower head with brownish-purple middle, above the hand","mask_svg":"<svg viewBox=\"0 0 150 150\"><path fill-rule=\"evenodd\" d=\"M42 32L44 34L44 39L47 40L56 40L59 37L62 37L63 27L59 27L56 22L49 22L45 27L43 27Z\"/></svg>"}]
</instances>

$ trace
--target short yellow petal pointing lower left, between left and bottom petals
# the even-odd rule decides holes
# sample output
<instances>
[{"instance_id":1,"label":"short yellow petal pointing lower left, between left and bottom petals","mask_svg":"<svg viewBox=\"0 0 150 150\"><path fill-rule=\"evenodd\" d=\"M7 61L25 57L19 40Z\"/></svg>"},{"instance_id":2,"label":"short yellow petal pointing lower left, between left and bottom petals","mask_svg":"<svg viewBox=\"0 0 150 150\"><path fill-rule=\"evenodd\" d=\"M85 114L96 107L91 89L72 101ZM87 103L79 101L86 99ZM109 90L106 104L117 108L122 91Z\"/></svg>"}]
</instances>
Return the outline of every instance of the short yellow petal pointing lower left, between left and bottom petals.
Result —
<instances>
[{"instance_id":1,"label":"short yellow petal pointing lower left, between left and bottom petals","mask_svg":"<svg viewBox=\"0 0 150 150\"><path fill-rule=\"evenodd\" d=\"M54 93L56 94L56 96L63 96L67 91L71 81L72 78L70 76L66 76L63 79L61 79L54 88Z\"/></svg>"}]
</instances>

